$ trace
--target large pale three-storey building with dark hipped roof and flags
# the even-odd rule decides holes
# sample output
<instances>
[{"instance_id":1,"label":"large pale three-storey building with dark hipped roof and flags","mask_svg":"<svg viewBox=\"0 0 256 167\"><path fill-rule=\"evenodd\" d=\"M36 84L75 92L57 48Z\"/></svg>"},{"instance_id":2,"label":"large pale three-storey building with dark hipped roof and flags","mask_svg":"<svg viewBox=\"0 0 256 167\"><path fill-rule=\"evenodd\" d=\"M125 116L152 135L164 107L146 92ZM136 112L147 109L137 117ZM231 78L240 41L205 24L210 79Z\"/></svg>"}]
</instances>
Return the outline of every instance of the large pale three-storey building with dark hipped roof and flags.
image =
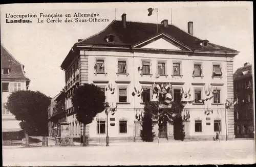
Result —
<instances>
[{"instance_id":1,"label":"large pale three-storey building with dark hipped roof and flags","mask_svg":"<svg viewBox=\"0 0 256 167\"><path fill-rule=\"evenodd\" d=\"M80 137L81 127L70 99L76 85L95 84L102 91L110 86L115 91L114 94L105 91L106 102L118 104L115 115L109 117L110 141L140 140L136 113L143 110L145 101L153 100L153 86L169 84L174 100L180 100L183 91L190 92L189 99L195 100L185 106L190 113L190 119L184 122L186 138L212 140L220 132L221 140L232 140L233 107L225 109L224 103L233 99L232 58L238 53L193 36L193 22L188 22L185 32L168 24L168 20L157 26L126 21L123 14L122 20L112 21L98 34L78 40L62 62L67 114L62 118L67 116L66 121L70 122L70 135ZM140 97L132 95L134 87L143 89ZM208 90L214 98L202 103ZM212 112L205 113L206 108L212 108ZM100 113L86 129L90 140L104 140L105 113ZM157 126L154 129L157 134ZM160 129L160 137L174 138L174 125L167 123Z\"/></svg>"}]
</instances>

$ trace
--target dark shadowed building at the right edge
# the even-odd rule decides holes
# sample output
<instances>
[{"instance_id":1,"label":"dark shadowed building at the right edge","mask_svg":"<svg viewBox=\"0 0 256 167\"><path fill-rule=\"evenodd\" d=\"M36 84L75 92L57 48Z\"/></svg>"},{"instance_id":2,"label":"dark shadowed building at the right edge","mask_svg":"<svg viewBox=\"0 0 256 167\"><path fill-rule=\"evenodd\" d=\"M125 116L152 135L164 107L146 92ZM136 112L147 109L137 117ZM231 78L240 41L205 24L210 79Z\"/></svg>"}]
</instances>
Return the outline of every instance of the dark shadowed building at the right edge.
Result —
<instances>
[{"instance_id":1,"label":"dark shadowed building at the right edge","mask_svg":"<svg viewBox=\"0 0 256 167\"><path fill-rule=\"evenodd\" d=\"M254 138L252 65L245 63L234 73L234 127L237 138Z\"/></svg>"}]
</instances>

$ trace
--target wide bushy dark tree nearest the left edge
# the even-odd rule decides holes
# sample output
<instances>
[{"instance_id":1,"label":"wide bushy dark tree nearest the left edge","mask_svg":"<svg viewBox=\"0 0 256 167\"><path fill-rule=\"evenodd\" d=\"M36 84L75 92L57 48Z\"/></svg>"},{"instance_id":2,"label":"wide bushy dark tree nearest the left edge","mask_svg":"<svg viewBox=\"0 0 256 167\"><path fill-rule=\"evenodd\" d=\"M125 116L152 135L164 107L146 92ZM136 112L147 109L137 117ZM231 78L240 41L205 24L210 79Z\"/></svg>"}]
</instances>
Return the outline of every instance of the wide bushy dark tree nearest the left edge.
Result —
<instances>
[{"instance_id":1,"label":"wide bushy dark tree nearest the left edge","mask_svg":"<svg viewBox=\"0 0 256 167\"><path fill-rule=\"evenodd\" d=\"M15 119L21 121L20 128L28 135L42 135L48 132L48 106L51 98L39 91L12 92L7 99L6 108ZM29 142L27 142L29 146Z\"/></svg>"}]
</instances>

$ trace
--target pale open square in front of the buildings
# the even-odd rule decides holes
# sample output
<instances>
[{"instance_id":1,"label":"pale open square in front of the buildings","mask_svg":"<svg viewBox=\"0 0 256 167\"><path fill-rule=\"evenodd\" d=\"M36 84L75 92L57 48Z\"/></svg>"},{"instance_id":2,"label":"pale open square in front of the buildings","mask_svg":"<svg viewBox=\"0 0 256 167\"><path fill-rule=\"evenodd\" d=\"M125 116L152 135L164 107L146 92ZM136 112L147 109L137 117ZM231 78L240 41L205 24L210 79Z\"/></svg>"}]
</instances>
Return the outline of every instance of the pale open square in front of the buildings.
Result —
<instances>
[{"instance_id":1,"label":"pale open square in front of the buildings","mask_svg":"<svg viewBox=\"0 0 256 167\"><path fill-rule=\"evenodd\" d=\"M255 142L110 143L89 147L3 147L3 165L157 165L255 163Z\"/></svg>"}]
</instances>

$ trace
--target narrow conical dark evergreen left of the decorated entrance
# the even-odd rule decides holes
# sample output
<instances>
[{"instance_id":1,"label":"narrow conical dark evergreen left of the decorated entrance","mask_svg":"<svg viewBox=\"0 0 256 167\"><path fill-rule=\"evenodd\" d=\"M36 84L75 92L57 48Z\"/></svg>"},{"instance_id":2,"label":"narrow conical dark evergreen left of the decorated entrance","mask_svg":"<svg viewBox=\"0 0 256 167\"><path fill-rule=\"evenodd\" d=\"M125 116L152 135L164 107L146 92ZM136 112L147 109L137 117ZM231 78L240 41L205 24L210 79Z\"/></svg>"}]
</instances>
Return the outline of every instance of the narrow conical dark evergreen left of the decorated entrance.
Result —
<instances>
[{"instance_id":1,"label":"narrow conical dark evergreen left of the decorated entrance","mask_svg":"<svg viewBox=\"0 0 256 167\"><path fill-rule=\"evenodd\" d=\"M154 126L152 123L153 116L149 108L152 109L152 107L150 107L148 103L146 103L144 107L144 116L142 117L142 130L140 130L140 137L144 142L153 142L154 137L156 136L155 132L152 131Z\"/></svg>"}]
</instances>

